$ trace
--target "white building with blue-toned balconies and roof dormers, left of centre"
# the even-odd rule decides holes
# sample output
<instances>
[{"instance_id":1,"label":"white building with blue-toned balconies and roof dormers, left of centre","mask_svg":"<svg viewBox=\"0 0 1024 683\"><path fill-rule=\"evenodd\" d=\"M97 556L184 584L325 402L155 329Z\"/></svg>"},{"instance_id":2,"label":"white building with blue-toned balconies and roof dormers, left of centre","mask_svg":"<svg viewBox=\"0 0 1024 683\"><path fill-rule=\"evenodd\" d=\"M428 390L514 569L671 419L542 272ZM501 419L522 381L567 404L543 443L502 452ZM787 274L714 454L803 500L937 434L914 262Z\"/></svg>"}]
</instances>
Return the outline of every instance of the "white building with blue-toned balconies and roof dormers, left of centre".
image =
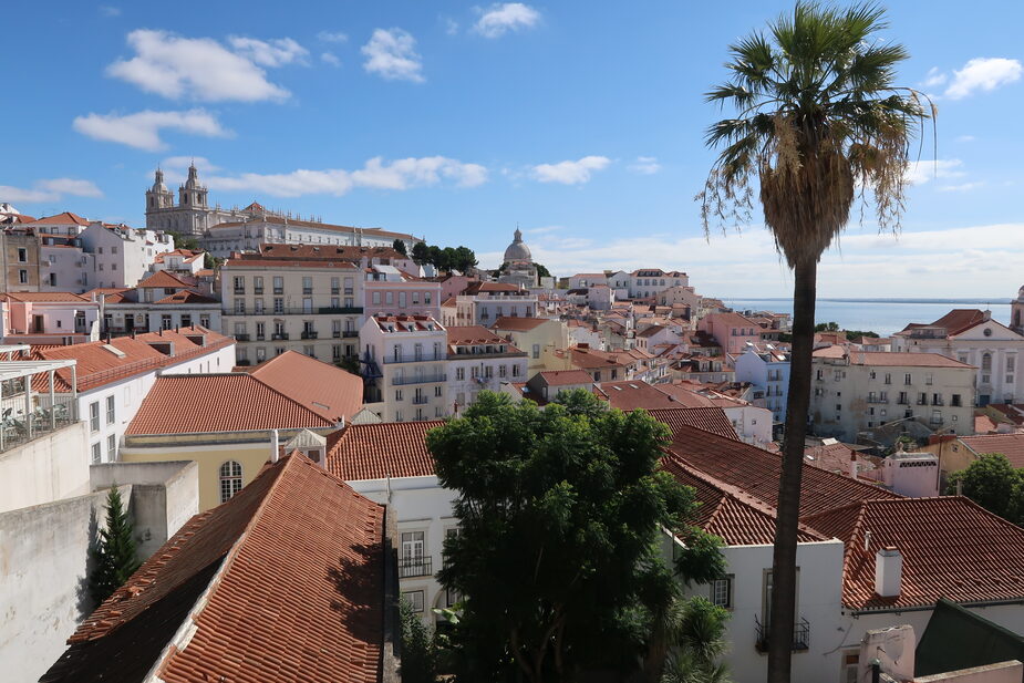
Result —
<instances>
[{"instance_id":1,"label":"white building with blue-toned balconies and roof dormers, left of centre","mask_svg":"<svg viewBox=\"0 0 1024 683\"><path fill-rule=\"evenodd\" d=\"M425 315L375 315L359 332L365 407L384 422L447 415L444 327Z\"/></svg>"}]
</instances>

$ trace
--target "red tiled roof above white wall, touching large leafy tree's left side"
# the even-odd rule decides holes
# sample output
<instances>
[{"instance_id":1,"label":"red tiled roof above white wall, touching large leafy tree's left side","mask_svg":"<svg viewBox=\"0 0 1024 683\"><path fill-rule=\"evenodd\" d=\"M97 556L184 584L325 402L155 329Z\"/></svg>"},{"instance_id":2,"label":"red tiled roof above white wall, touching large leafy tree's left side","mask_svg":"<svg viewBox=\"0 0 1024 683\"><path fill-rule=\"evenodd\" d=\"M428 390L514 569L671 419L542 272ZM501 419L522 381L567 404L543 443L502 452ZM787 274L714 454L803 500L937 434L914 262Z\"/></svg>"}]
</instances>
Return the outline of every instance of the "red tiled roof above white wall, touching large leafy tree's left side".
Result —
<instances>
[{"instance_id":1,"label":"red tiled roof above white wall, touching large leafy tree's left side","mask_svg":"<svg viewBox=\"0 0 1024 683\"><path fill-rule=\"evenodd\" d=\"M433 475L426 433L442 424L435 420L349 425L328 437L327 468L345 482Z\"/></svg>"}]
</instances>

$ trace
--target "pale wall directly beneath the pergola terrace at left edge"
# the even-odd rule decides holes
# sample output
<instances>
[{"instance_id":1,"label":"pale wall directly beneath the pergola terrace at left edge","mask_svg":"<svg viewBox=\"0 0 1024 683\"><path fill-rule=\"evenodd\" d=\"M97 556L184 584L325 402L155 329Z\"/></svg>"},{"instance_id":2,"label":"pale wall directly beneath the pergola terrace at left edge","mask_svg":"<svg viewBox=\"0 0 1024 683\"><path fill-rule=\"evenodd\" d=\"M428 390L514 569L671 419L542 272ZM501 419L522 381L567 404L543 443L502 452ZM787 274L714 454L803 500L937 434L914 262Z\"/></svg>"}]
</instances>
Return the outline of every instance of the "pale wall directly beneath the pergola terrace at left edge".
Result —
<instances>
[{"instance_id":1,"label":"pale wall directly beneath the pergola terrace at left edge","mask_svg":"<svg viewBox=\"0 0 1024 683\"><path fill-rule=\"evenodd\" d=\"M87 430L76 422L0 453L0 513L87 494Z\"/></svg>"}]
</instances>

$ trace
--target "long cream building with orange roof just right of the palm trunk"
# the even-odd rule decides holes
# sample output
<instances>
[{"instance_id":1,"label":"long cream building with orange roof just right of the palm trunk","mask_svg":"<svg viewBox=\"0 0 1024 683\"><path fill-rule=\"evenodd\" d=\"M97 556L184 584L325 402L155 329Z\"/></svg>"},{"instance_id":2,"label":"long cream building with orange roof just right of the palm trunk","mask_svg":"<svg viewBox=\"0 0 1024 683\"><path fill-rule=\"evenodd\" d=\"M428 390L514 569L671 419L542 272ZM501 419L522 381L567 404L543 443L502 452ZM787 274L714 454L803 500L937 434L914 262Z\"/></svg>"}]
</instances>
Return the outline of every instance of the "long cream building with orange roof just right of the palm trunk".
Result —
<instances>
[{"instance_id":1,"label":"long cream building with orange roof just right of the palm trunk","mask_svg":"<svg viewBox=\"0 0 1024 683\"><path fill-rule=\"evenodd\" d=\"M933 432L974 433L973 365L935 353L871 353L845 346L814 354L815 434L857 443L886 423L913 420Z\"/></svg>"}]
</instances>

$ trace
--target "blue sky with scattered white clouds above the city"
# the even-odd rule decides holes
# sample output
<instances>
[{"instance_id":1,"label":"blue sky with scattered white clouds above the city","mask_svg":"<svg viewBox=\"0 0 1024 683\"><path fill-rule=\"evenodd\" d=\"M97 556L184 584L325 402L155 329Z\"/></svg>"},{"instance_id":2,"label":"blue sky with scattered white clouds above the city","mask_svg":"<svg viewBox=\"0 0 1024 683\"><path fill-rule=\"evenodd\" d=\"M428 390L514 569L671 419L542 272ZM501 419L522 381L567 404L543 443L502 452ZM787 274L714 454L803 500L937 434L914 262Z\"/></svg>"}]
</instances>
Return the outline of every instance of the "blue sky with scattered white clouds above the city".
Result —
<instances>
[{"instance_id":1,"label":"blue sky with scattered white clouds above the city","mask_svg":"<svg viewBox=\"0 0 1024 683\"><path fill-rule=\"evenodd\" d=\"M15 2L0 201L143 225L157 164L211 200L465 244L518 224L558 275L642 266L786 296L757 226L703 237L693 195L726 45L788 3ZM1024 281L1024 4L891 2L901 81L933 94L938 165L902 236L852 225L819 294L1010 297ZM931 144L921 158L934 157Z\"/></svg>"}]
</instances>

